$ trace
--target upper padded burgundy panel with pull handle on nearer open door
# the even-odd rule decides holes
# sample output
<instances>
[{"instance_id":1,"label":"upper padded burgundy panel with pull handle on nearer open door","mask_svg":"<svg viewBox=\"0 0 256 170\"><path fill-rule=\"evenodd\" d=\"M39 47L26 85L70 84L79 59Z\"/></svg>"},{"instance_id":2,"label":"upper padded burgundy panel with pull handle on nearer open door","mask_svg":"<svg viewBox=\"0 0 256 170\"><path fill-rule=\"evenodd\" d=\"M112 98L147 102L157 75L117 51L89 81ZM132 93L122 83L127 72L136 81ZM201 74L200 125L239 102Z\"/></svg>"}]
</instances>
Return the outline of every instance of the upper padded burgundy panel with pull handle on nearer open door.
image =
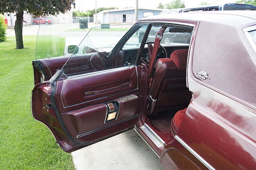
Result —
<instances>
[{"instance_id":1,"label":"upper padded burgundy panel with pull handle on nearer open door","mask_svg":"<svg viewBox=\"0 0 256 170\"><path fill-rule=\"evenodd\" d=\"M137 67L90 74L59 81L56 101L61 112L81 108L98 102L107 102L119 96L139 91ZM121 78L122 77L122 78Z\"/></svg>"}]
</instances>

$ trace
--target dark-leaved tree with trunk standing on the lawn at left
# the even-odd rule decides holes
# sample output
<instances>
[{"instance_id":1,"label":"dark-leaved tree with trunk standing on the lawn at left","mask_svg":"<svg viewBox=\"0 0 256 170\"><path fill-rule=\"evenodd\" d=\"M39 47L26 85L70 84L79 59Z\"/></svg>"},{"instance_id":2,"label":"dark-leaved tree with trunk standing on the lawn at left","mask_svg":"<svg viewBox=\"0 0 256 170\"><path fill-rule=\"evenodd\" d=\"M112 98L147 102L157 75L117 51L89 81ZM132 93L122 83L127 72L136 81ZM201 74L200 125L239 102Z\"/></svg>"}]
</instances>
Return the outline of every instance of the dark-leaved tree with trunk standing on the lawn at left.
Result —
<instances>
[{"instance_id":1,"label":"dark-leaved tree with trunk standing on the lawn at left","mask_svg":"<svg viewBox=\"0 0 256 170\"><path fill-rule=\"evenodd\" d=\"M16 13L15 21L15 37L16 49L24 48L22 27L23 27L23 14L24 11L40 15L56 15L65 13L75 6L75 0L0 0L0 12Z\"/></svg>"}]
</instances>

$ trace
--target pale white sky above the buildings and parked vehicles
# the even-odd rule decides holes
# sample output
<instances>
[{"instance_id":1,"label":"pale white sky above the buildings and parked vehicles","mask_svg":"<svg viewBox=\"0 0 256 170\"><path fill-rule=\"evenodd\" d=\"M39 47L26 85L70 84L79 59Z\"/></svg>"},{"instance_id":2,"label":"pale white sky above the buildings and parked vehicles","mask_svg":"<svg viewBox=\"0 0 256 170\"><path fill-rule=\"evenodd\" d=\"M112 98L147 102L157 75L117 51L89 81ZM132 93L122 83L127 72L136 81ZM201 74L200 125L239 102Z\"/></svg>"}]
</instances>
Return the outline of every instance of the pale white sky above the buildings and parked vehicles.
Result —
<instances>
[{"instance_id":1,"label":"pale white sky above the buildings and parked vehicles","mask_svg":"<svg viewBox=\"0 0 256 170\"><path fill-rule=\"evenodd\" d=\"M209 4L223 4L223 3L234 3L236 0L183 0L186 7L198 6L202 1L206 1ZM95 0L76 0L76 8L73 10L80 9L86 11L87 9L95 8ZM139 0L139 8L157 8L159 3L166 4L172 2L172 0ZM116 7L135 8L136 0L97 0L97 8L99 7Z\"/></svg>"}]
</instances>

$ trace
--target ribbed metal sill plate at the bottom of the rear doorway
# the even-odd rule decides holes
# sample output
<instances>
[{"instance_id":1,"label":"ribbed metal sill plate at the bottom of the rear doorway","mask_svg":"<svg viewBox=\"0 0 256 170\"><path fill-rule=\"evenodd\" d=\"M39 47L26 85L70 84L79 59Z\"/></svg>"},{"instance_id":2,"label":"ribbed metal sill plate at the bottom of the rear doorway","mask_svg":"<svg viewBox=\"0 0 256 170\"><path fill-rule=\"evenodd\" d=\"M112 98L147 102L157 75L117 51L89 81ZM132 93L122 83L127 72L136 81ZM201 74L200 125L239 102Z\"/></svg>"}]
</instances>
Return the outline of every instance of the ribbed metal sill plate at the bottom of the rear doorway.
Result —
<instances>
[{"instance_id":1,"label":"ribbed metal sill plate at the bottom of the rear doorway","mask_svg":"<svg viewBox=\"0 0 256 170\"><path fill-rule=\"evenodd\" d=\"M163 147L165 143L157 133L155 133L146 123L140 127L140 129L148 136L148 138L157 146Z\"/></svg>"}]
</instances>

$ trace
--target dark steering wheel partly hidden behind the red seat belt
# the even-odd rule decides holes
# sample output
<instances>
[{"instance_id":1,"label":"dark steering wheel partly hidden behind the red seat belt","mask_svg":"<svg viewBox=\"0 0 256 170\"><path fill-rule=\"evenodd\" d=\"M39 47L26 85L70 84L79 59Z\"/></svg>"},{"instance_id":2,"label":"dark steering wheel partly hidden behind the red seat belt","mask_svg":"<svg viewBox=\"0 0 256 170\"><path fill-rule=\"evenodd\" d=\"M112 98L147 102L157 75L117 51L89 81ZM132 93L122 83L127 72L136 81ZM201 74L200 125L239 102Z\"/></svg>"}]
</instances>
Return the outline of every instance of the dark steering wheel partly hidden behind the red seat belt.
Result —
<instances>
[{"instance_id":1,"label":"dark steering wheel partly hidden behind the red seat belt","mask_svg":"<svg viewBox=\"0 0 256 170\"><path fill-rule=\"evenodd\" d=\"M140 57L140 60L141 60L145 65L148 66L148 65L149 65L149 61L150 61L150 59L151 59L151 54L152 54L152 51L153 51L153 45L152 45L152 44L154 44L154 42L153 42L153 41L148 41L148 42L146 42L145 44L148 45L148 55L147 55L145 58ZM159 44L159 47L162 48L162 51L157 51L157 56L159 56L160 54L164 54L164 55L165 55L165 58L167 58L168 55L167 55L166 49L163 47L163 45L160 45L160 44ZM156 56L156 58L155 58L155 62L157 61L157 56Z\"/></svg>"}]
</instances>

